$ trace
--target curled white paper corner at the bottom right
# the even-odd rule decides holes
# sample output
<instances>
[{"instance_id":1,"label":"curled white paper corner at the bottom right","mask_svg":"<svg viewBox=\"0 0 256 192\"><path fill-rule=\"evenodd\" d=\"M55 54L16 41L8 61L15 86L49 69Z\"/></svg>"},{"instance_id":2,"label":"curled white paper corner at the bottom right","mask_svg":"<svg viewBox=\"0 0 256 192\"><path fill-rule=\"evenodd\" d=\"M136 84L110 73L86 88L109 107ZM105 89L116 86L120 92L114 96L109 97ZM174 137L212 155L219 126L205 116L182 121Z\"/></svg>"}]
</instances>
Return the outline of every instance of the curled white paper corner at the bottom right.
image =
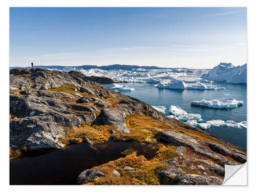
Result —
<instances>
[{"instance_id":1,"label":"curled white paper corner at the bottom right","mask_svg":"<svg viewBox=\"0 0 256 192\"><path fill-rule=\"evenodd\" d=\"M222 185L247 185L247 162L241 165L225 165Z\"/></svg>"}]
</instances>

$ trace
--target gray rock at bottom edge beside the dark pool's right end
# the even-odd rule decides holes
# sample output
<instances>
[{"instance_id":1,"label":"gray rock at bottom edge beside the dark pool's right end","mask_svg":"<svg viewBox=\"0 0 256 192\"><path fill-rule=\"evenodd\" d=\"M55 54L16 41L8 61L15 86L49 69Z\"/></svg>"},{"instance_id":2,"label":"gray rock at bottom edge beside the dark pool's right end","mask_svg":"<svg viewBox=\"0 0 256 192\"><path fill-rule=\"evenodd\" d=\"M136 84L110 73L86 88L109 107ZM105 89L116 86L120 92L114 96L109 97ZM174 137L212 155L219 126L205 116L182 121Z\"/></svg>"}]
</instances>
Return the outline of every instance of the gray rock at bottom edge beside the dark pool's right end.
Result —
<instances>
[{"instance_id":1,"label":"gray rock at bottom edge beside the dark pool's right end","mask_svg":"<svg viewBox=\"0 0 256 192\"><path fill-rule=\"evenodd\" d=\"M92 182L94 179L103 177L105 174L97 169L86 169L77 177L78 184L86 184Z\"/></svg>"}]
</instances>

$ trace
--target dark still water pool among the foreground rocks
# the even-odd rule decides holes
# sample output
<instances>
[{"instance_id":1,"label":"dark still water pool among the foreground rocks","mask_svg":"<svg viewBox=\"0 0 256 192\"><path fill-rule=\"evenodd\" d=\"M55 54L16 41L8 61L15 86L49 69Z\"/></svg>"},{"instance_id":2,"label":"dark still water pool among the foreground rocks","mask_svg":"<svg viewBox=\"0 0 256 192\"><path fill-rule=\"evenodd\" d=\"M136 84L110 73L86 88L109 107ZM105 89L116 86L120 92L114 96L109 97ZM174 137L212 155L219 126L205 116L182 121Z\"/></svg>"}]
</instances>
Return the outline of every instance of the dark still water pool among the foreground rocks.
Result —
<instances>
[{"instance_id":1,"label":"dark still water pool among the foreground rocks","mask_svg":"<svg viewBox=\"0 0 256 192\"><path fill-rule=\"evenodd\" d=\"M124 157L121 152L135 150L137 155L152 159L156 145L132 142L108 141L70 145L46 154L29 153L25 157L10 160L11 185L73 185L84 169Z\"/></svg>"}]
</instances>

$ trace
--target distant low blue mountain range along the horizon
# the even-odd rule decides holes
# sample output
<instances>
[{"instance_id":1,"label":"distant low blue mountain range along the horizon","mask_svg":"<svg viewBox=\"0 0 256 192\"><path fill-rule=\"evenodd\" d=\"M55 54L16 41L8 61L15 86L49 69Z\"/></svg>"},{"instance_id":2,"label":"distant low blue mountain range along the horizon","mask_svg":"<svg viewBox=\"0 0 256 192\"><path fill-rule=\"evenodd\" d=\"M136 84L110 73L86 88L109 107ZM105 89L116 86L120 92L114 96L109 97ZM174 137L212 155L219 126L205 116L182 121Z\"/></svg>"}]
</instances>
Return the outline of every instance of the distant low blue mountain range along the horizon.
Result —
<instances>
[{"instance_id":1,"label":"distant low blue mountain range along the horizon","mask_svg":"<svg viewBox=\"0 0 256 192\"><path fill-rule=\"evenodd\" d=\"M10 69L15 69L15 68L22 68L22 67L10 67ZM31 68L31 67L26 67L26 68ZM138 69L138 68L143 68L143 69L187 69L187 68L160 68L156 66L131 66L131 65L110 65L110 66L91 66L91 65L84 65L84 66L34 66L34 68L41 68L41 69L51 69L51 70L60 70L60 71L70 71L70 70L88 70L88 69L102 69L102 70L111 70L111 69L116 69L116 70L126 70L126 71L131 71L132 69Z\"/></svg>"}]
</instances>

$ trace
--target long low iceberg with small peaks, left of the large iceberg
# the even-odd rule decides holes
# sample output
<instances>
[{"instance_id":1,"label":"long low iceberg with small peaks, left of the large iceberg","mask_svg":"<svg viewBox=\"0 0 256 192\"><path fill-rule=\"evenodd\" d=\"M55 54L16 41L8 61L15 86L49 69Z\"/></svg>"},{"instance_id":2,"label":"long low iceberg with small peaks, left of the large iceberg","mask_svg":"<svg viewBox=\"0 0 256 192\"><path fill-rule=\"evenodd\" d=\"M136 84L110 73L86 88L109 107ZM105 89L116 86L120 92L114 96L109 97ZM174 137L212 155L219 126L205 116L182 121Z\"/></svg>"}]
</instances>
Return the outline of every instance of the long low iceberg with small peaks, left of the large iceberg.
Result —
<instances>
[{"instance_id":1,"label":"long low iceberg with small peaks, left of the large iceberg","mask_svg":"<svg viewBox=\"0 0 256 192\"><path fill-rule=\"evenodd\" d=\"M189 89L189 90L220 90L225 89L220 85L212 84L212 83L202 83L202 82L194 82L194 83L185 83L184 81L177 81L177 82L159 82L156 88L160 89Z\"/></svg>"}]
</instances>

